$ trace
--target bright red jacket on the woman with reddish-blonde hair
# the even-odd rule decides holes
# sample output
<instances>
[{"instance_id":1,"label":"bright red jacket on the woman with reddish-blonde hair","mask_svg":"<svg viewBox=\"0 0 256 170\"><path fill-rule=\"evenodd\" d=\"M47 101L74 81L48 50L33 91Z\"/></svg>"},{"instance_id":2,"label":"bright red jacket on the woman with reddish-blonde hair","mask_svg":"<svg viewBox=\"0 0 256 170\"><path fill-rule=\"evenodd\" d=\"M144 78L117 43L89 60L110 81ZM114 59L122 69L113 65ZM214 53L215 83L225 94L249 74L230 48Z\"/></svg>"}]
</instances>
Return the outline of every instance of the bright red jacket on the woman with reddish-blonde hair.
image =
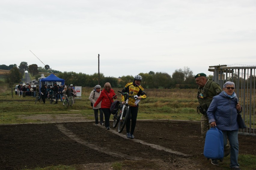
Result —
<instances>
[{"instance_id":1,"label":"bright red jacket on the woman with reddish-blonde hair","mask_svg":"<svg viewBox=\"0 0 256 170\"><path fill-rule=\"evenodd\" d=\"M111 103L114 102L114 100L112 99L112 97L116 95L114 90L111 88L109 92L105 91L105 89L102 90L102 92L99 95L99 98L97 99L97 101L94 103L94 107L96 107L99 102L101 101L101 108L108 108L110 109ZM115 99L117 97L114 97ZM110 101L111 100L111 101Z\"/></svg>"}]
</instances>

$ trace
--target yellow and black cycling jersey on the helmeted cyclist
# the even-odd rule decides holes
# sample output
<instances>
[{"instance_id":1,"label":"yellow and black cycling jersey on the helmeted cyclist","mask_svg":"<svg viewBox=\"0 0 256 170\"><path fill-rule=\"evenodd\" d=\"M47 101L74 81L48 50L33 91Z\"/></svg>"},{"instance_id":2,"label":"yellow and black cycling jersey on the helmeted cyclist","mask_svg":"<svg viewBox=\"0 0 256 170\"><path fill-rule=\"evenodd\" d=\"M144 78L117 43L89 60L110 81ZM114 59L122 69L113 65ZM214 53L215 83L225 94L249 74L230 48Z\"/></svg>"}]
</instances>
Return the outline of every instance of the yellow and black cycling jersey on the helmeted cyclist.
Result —
<instances>
[{"instance_id":1,"label":"yellow and black cycling jersey on the helmeted cyclist","mask_svg":"<svg viewBox=\"0 0 256 170\"><path fill-rule=\"evenodd\" d=\"M127 83L125 85L125 87L123 88L122 92L123 93L125 93L125 92L129 93L129 95L131 95L131 96L132 95L133 96L138 95L138 97L140 96L140 97L142 97L142 99L146 99L147 98L147 94L145 93L143 87L141 85L139 85L139 86L135 85L133 82ZM121 98L122 98L122 101L126 100L123 95L121 95ZM134 102L135 102L135 99L134 98L132 98L132 99L130 98L128 104L130 106L134 106L135 107L136 105L134 104ZM137 105L137 106L139 106L139 105Z\"/></svg>"}]
</instances>

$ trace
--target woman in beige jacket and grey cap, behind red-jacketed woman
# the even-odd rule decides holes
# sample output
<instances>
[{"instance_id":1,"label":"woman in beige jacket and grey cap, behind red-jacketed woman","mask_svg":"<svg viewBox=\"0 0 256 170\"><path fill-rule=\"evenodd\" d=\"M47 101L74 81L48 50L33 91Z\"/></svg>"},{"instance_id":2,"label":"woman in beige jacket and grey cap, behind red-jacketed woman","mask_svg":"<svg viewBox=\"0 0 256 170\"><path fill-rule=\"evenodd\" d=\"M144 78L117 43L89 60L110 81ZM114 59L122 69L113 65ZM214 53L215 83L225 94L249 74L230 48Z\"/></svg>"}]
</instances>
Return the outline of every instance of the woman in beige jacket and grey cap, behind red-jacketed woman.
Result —
<instances>
[{"instance_id":1,"label":"woman in beige jacket and grey cap, behind red-jacketed woman","mask_svg":"<svg viewBox=\"0 0 256 170\"><path fill-rule=\"evenodd\" d=\"M89 96L89 100L91 101L92 105L94 105L94 103L96 103L96 100L99 98L100 93L101 93L101 86L96 85L93 88L93 91L91 91L90 96ZM96 107L93 107L94 117L95 117L95 125L99 124L99 120L100 120L100 125L105 125L104 121L103 121L103 112L102 112L102 109L100 108L100 105L101 105L101 101L99 102L99 104ZM99 116L98 116L98 112L99 112Z\"/></svg>"}]
</instances>

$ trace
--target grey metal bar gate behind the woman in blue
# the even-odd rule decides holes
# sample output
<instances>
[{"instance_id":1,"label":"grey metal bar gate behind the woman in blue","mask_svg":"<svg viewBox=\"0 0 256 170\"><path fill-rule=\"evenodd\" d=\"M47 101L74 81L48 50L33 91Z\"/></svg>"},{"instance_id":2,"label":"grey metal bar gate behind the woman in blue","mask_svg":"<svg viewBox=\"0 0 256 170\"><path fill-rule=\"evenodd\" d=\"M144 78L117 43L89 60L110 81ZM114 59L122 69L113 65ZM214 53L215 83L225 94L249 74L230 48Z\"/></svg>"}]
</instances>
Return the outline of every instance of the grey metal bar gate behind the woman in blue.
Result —
<instances>
[{"instance_id":1,"label":"grey metal bar gate behind the woman in blue","mask_svg":"<svg viewBox=\"0 0 256 170\"><path fill-rule=\"evenodd\" d=\"M211 69L213 68L214 69ZM256 67L227 67L227 65L209 66L209 71L214 71L213 81L221 88L225 82L235 83L235 93L239 104L242 106L242 118L247 126L240 129L239 134L256 136L255 130L255 69Z\"/></svg>"}]
</instances>

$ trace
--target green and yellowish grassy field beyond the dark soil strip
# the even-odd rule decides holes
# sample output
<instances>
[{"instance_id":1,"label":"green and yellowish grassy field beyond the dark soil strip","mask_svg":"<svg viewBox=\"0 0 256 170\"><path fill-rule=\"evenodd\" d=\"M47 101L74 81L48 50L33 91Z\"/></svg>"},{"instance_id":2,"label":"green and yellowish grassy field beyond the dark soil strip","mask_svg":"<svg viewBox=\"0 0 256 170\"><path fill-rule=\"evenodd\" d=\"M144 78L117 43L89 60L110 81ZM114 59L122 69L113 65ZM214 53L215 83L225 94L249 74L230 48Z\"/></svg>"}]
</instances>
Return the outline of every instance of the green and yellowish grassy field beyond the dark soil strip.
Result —
<instances>
[{"instance_id":1,"label":"green and yellowish grassy field beyond the dark soil strip","mask_svg":"<svg viewBox=\"0 0 256 170\"><path fill-rule=\"evenodd\" d=\"M19 115L35 114L71 114L71 112L62 106L62 104L51 105L48 101L46 104L35 104L34 97L19 97L11 94L11 89L6 84L0 84L0 124L30 123L41 122L40 120L20 119ZM115 88L114 91L122 89ZM80 113L88 120L94 120L90 101L88 100L92 88L82 88L81 99L76 99L72 109L78 110L75 114ZM139 105L138 119L169 119L169 120L191 120L200 121L201 115L197 114L196 107L197 89L145 89L148 98L141 100ZM120 100L120 96L118 96ZM246 161L248 165L254 165L255 155L239 155L239 158ZM226 161L228 164L228 160ZM57 170L66 169L74 170L72 166L50 166L46 168L37 168L36 170ZM113 169L121 169L118 163L113 164ZM25 170L25 169L24 169Z\"/></svg>"}]
</instances>

